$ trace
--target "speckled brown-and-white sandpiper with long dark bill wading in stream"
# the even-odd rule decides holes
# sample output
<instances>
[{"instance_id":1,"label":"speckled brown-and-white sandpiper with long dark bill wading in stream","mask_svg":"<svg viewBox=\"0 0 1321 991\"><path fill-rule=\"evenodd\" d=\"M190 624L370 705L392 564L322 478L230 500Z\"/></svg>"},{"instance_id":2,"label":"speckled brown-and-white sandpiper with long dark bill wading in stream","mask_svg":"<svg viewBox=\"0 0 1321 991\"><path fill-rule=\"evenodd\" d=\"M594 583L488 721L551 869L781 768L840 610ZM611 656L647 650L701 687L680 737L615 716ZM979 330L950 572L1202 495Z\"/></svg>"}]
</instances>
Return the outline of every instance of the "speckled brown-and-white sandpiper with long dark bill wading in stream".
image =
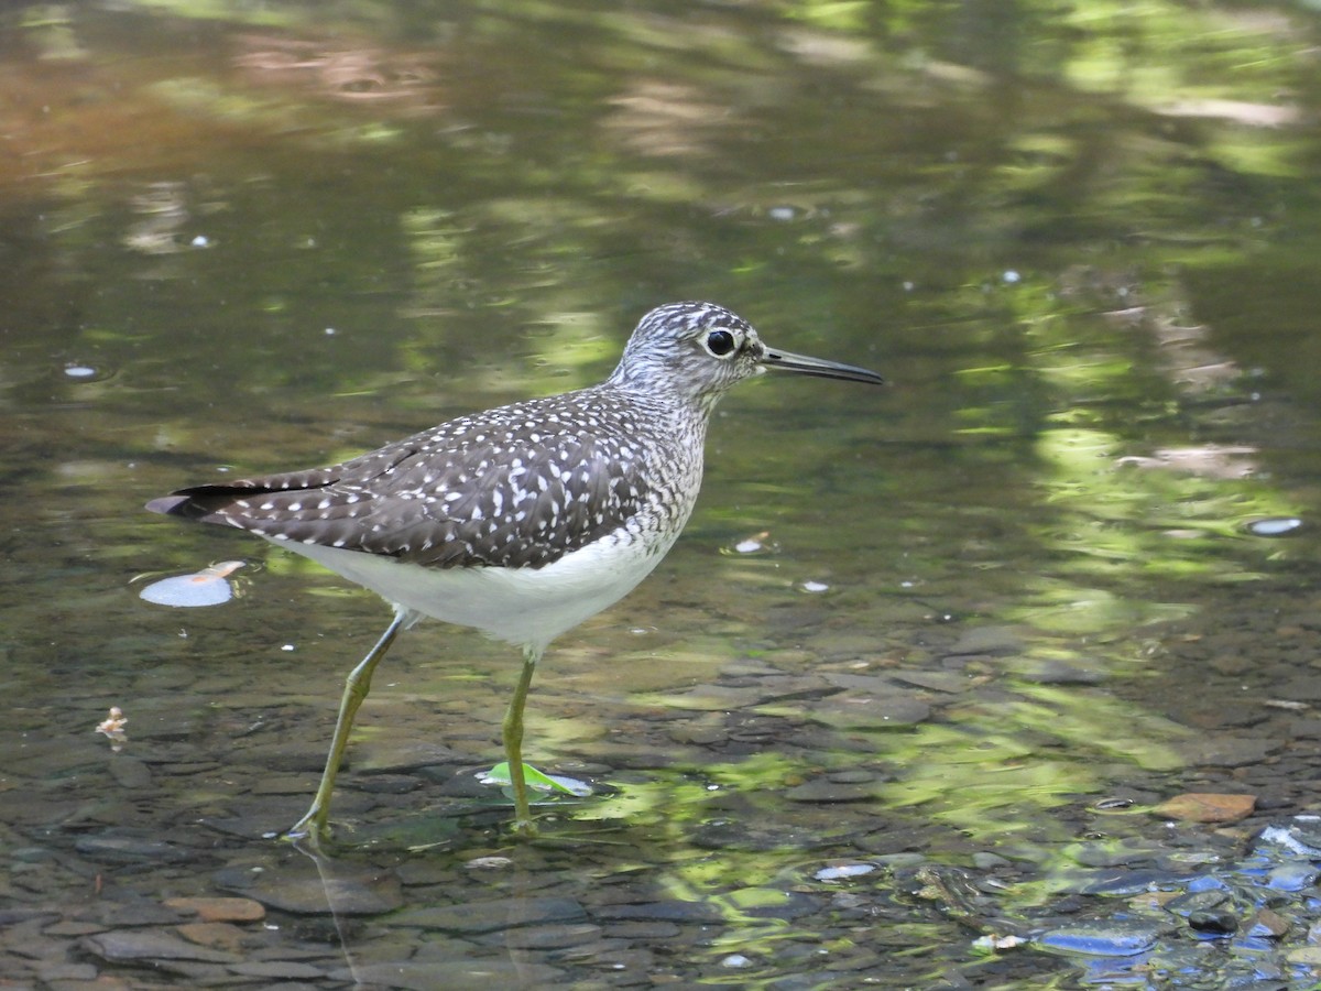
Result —
<instances>
[{"instance_id":1,"label":"speckled brown-and-white sandpiper with long dark bill wading in stream","mask_svg":"<svg viewBox=\"0 0 1321 991\"><path fill-rule=\"evenodd\" d=\"M371 673L429 616L523 649L502 724L515 826L532 830L523 706L546 647L627 595L692 513L716 402L782 369L880 383L867 369L775 350L713 303L638 324L588 388L460 416L329 468L199 485L147 509L247 530L380 595L394 621L349 674L321 785L291 836L328 831L336 773Z\"/></svg>"}]
</instances>

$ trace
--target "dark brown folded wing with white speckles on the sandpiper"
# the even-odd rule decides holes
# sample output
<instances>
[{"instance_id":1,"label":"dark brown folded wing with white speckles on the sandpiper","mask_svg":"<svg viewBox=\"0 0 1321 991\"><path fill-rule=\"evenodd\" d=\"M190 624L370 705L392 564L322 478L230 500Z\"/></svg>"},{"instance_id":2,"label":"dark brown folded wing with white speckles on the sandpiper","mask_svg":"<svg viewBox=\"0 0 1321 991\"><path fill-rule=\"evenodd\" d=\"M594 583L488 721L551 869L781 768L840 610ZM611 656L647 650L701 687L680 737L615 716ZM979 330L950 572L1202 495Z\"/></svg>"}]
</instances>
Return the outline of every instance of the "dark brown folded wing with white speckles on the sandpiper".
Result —
<instances>
[{"instance_id":1,"label":"dark brown folded wing with white speckles on the sandpiper","mask_svg":"<svg viewBox=\"0 0 1321 991\"><path fill-rule=\"evenodd\" d=\"M587 390L460 418L329 468L182 489L148 507L427 567L539 568L654 502L646 474L637 424Z\"/></svg>"}]
</instances>

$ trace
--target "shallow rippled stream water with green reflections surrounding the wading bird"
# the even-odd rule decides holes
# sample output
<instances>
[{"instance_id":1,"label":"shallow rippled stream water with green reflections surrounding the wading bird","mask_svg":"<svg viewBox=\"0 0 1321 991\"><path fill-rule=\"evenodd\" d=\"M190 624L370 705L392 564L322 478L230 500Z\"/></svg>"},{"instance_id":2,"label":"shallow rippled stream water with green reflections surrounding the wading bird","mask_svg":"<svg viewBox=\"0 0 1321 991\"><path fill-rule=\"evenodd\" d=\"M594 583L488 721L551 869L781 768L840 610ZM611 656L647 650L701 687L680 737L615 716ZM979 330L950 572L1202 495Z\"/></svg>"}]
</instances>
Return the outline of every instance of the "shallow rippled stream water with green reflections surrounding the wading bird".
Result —
<instances>
[{"instance_id":1,"label":"shallow rippled stream water with green reflections surrounding the wading bird","mask_svg":"<svg viewBox=\"0 0 1321 991\"><path fill-rule=\"evenodd\" d=\"M1318 25L1086 11L7 9L4 976L1314 983L1310 858L1251 836L1318 811ZM724 402L683 539L539 671L530 756L597 788L540 839L476 782L514 651L424 625L333 856L280 842L388 610L141 505L593 382L683 297L892 386ZM1148 869L1242 933L1301 880L1256 942L1077 951L1133 908L1079 872Z\"/></svg>"}]
</instances>

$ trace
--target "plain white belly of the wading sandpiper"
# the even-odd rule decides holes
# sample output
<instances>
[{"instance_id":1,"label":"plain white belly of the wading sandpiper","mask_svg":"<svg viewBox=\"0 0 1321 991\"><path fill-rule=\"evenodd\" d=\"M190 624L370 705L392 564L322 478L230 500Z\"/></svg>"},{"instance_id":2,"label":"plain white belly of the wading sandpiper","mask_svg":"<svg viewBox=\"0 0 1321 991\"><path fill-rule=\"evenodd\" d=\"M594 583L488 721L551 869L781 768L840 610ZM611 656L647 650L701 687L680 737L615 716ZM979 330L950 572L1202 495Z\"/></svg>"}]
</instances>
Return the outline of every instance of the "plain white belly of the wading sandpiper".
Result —
<instances>
[{"instance_id":1,"label":"plain white belly of the wading sandpiper","mask_svg":"<svg viewBox=\"0 0 1321 991\"><path fill-rule=\"evenodd\" d=\"M271 542L370 588L396 609L473 626L539 653L631 592L674 538L650 546L605 538L536 569L423 568L362 551Z\"/></svg>"}]
</instances>

